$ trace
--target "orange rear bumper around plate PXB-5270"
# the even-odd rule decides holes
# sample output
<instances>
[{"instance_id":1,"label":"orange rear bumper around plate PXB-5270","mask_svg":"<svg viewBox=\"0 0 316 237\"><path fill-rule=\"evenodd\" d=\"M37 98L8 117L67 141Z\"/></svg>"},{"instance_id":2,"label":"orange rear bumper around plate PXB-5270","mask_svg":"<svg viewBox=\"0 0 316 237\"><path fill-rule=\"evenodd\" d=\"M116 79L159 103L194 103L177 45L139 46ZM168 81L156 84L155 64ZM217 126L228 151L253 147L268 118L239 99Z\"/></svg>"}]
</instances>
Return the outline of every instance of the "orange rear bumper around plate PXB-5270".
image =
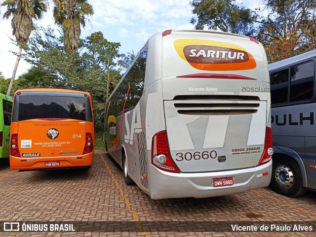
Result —
<instances>
[{"instance_id":1,"label":"orange rear bumper around plate PXB-5270","mask_svg":"<svg viewBox=\"0 0 316 237\"><path fill-rule=\"evenodd\" d=\"M80 159L77 159L80 157ZM61 156L61 157L15 157L10 155L11 169L52 169L52 168L72 168L92 166L93 151L78 156ZM59 166L47 167L45 162L59 162Z\"/></svg>"}]
</instances>

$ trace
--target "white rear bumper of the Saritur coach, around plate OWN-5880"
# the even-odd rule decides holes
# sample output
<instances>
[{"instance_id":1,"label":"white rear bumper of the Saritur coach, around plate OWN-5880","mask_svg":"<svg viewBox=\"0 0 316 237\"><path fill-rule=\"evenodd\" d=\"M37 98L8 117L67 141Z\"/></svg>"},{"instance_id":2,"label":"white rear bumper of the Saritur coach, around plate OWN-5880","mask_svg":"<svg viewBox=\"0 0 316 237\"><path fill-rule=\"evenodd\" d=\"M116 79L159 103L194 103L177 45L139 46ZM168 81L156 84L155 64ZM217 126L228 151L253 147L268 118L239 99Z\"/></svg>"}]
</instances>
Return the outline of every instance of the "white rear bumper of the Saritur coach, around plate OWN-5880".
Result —
<instances>
[{"instance_id":1,"label":"white rear bumper of the Saritur coach, around plate OWN-5880","mask_svg":"<svg viewBox=\"0 0 316 237\"><path fill-rule=\"evenodd\" d=\"M149 169L152 199L208 198L267 187L271 180L272 161L259 167L219 172L171 173L153 165ZM234 185L214 187L213 178L221 177L234 177Z\"/></svg>"}]
</instances>

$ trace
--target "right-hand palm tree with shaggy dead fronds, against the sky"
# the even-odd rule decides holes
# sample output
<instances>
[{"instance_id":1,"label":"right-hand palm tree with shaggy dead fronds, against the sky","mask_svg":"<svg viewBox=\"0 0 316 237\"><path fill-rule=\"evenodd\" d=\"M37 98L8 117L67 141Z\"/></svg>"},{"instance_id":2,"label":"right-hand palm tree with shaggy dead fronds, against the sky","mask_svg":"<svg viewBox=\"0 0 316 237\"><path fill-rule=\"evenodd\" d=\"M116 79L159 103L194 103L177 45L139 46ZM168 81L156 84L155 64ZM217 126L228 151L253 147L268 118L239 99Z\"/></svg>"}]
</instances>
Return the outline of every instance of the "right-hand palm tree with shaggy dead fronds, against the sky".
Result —
<instances>
[{"instance_id":1,"label":"right-hand palm tree with shaggy dead fronds, against the sky","mask_svg":"<svg viewBox=\"0 0 316 237\"><path fill-rule=\"evenodd\" d=\"M64 45L70 52L76 52L81 33L80 25L85 27L86 16L93 14L93 7L87 0L54 0L55 23L62 26Z\"/></svg>"}]
</instances>

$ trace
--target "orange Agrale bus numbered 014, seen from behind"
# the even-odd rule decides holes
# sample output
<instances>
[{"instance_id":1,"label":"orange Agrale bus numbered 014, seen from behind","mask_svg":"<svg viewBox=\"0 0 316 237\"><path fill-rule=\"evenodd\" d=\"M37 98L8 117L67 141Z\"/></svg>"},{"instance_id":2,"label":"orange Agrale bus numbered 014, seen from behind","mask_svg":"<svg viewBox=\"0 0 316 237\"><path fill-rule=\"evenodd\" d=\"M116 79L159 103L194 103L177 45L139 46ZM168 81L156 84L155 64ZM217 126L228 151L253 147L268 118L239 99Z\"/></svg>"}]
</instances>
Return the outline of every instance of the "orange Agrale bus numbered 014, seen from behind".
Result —
<instances>
[{"instance_id":1,"label":"orange Agrale bus numbered 014, seen from behind","mask_svg":"<svg viewBox=\"0 0 316 237\"><path fill-rule=\"evenodd\" d=\"M94 124L87 92L27 89L14 94L11 169L91 167Z\"/></svg>"}]
</instances>

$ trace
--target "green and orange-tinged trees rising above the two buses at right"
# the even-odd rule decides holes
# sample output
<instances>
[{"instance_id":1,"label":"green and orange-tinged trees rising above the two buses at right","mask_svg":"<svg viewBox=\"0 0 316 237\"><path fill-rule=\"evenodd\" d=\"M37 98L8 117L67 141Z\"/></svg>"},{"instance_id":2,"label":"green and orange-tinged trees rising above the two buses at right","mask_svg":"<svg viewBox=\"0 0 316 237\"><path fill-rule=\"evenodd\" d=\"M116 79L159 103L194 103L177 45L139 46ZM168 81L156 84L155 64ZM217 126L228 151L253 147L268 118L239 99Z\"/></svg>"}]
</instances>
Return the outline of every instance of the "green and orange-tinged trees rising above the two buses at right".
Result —
<instances>
[{"instance_id":1,"label":"green and orange-tinged trees rising above the two buses at right","mask_svg":"<svg viewBox=\"0 0 316 237\"><path fill-rule=\"evenodd\" d=\"M316 0L264 0L262 9L245 8L235 0L193 0L196 29L207 27L252 35L265 47L269 63L316 48Z\"/></svg>"}]
</instances>

